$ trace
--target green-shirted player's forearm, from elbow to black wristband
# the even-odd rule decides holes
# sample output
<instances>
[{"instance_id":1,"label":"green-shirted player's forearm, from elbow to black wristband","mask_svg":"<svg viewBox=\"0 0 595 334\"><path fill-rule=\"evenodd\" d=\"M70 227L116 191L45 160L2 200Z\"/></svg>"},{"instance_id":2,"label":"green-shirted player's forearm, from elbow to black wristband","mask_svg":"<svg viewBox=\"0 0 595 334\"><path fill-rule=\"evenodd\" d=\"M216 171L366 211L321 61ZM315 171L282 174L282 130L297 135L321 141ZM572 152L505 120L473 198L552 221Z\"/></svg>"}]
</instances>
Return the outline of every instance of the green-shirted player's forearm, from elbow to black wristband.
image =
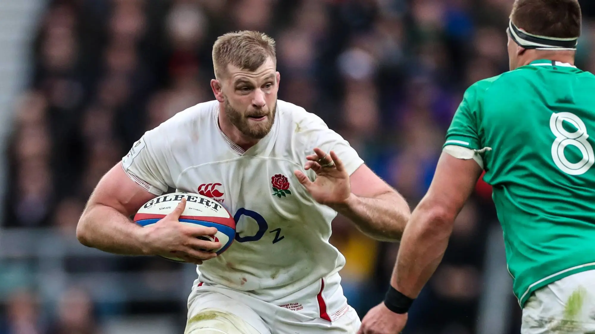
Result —
<instances>
[{"instance_id":1,"label":"green-shirted player's forearm, from elbow to black wristband","mask_svg":"<svg viewBox=\"0 0 595 334\"><path fill-rule=\"evenodd\" d=\"M393 270L391 284L395 289L417 298L444 256L452 220L432 209L414 211L403 233Z\"/></svg>"}]
</instances>

